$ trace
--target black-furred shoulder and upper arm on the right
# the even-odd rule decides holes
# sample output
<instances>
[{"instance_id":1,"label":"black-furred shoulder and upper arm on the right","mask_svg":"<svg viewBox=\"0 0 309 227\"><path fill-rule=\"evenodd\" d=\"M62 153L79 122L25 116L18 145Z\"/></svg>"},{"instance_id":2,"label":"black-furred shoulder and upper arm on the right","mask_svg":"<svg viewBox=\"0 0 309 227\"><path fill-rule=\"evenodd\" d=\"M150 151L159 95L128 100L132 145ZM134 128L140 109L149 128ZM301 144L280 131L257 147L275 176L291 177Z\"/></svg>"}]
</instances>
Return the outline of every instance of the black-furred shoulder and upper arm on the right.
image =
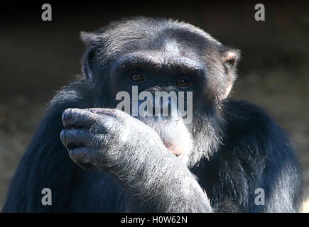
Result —
<instances>
[{"instance_id":1,"label":"black-furred shoulder and upper arm on the right","mask_svg":"<svg viewBox=\"0 0 309 227\"><path fill-rule=\"evenodd\" d=\"M210 160L219 165L216 175L221 185L214 187L217 204L224 206L238 197L237 207L242 211L298 211L300 165L287 133L261 106L234 99L227 99L223 106L226 136ZM256 180L251 181L253 177ZM268 198L264 206L254 204L259 188Z\"/></svg>"}]
</instances>

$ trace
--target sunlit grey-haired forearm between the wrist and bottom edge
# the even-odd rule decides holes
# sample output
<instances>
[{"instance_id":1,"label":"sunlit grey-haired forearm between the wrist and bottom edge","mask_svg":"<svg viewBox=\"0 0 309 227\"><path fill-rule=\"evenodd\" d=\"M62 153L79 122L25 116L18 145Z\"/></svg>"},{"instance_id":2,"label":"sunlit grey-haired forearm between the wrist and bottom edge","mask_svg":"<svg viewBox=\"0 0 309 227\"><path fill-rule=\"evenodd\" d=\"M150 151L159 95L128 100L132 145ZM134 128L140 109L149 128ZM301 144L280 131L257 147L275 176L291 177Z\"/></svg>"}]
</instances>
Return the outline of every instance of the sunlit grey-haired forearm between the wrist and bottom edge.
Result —
<instances>
[{"instance_id":1,"label":"sunlit grey-haired forearm between the wrist and bottom edge","mask_svg":"<svg viewBox=\"0 0 309 227\"><path fill-rule=\"evenodd\" d=\"M150 203L156 207L156 211L212 211L192 173L159 142L142 144L140 149L114 150L107 158L108 169L146 206Z\"/></svg>"}]
</instances>

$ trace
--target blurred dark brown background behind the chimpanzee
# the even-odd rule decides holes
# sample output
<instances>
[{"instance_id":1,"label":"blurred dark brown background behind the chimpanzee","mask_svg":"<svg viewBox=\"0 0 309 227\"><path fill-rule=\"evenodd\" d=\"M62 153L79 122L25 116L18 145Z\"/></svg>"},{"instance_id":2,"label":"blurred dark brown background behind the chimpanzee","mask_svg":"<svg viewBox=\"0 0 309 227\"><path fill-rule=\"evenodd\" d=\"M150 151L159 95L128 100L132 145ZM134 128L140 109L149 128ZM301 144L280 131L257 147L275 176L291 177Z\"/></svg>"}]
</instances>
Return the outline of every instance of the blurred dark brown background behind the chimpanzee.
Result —
<instances>
[{"instance_id":1,"label":"blurred dark brown background behind the chimpanzee","mask_svg":"<svg viewBox=\"0 0 309 227\"><path fill-rule=\"evenodd\" d=\"M67 5L49 1L53 21L37 4L0 3L0 208L18 160L55 91L80 74L80 31L124 16L177 18L242 50L232 96L266 107L291 134L303 167L309 211L309 4L305 1L155 1ZM263 3L266 21L254 20Z\"/></svg>"}]
</instances>

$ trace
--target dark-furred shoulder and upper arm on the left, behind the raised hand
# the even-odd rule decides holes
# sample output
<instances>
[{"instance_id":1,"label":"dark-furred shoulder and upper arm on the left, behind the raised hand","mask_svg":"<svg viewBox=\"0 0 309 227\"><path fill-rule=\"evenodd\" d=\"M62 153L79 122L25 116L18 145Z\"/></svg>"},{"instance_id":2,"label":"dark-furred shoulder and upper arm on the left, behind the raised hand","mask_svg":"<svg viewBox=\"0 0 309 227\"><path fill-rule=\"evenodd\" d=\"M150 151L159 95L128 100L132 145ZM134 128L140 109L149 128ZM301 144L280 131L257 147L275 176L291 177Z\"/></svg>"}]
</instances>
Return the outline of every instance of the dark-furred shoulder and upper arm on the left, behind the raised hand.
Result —
<instances>
[{"instance_id":1,"label":"dark-furred shoulder and upper arm on the left, behind the raised hand","mask_svg":"<svg viewBox=\"0 0 309 227\"><path fill-rule=\"evenodd\" d=\"M105 175L85 172L75 165L61 143L61 114L67 108L92 106L84 80L73 82L58 92L46 111L30 145L23 154L11 181L1 212L95 212L123 211L116 203L119 187ZM102 192L93 185L104 184ZM42 189L52 192L52 205L43 206ZM97 196L98 194L101 196ZM80 196L82 194L82 196ZM102 201L102 197L104 201Z\"/></svg>"}]
</instances>

